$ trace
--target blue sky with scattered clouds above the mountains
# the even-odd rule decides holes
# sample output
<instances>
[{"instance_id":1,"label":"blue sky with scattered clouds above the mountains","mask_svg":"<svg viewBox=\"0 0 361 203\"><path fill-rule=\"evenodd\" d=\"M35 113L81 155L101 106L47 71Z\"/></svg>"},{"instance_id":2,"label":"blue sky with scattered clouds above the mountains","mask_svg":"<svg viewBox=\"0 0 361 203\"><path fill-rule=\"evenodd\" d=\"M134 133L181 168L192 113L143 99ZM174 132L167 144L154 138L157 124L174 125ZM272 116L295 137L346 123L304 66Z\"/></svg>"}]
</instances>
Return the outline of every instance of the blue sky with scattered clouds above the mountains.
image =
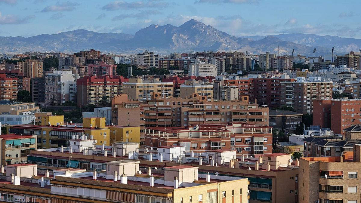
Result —
<instances>
[{"instance_id":1,"label":"blue sky with scattered clouds above the mountains","mask_svg":"<svg viewBox=\"0 0 361 203\"><path fill-rule=\"evenodd\" d=\"M310 33L361 38L361 1L328 0L0 0L0 36L75 29L134 34L190 19L231 35Z\"/></svg>"}]
</instances>

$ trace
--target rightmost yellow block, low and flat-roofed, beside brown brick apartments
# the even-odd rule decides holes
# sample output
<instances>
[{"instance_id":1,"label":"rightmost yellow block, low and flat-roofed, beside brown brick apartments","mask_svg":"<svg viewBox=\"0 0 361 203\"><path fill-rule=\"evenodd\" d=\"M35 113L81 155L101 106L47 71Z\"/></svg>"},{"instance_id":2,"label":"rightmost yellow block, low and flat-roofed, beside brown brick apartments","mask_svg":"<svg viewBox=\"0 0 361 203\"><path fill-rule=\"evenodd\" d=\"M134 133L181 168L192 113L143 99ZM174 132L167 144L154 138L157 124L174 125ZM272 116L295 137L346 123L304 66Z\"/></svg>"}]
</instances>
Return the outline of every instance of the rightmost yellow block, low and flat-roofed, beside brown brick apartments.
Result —
<instances>
[{"instance_id":1,"label":"rightmost yellow block, low and flat-roofed, beside brown brick apartments","mask_svg":"<svg viewBox=\"0 0 361 203\"><path fill-rule=\"evenodd\" d=\"M110 127L110 144L116 142L140 142L140 127Z\"/></svg>"}]
</instances>

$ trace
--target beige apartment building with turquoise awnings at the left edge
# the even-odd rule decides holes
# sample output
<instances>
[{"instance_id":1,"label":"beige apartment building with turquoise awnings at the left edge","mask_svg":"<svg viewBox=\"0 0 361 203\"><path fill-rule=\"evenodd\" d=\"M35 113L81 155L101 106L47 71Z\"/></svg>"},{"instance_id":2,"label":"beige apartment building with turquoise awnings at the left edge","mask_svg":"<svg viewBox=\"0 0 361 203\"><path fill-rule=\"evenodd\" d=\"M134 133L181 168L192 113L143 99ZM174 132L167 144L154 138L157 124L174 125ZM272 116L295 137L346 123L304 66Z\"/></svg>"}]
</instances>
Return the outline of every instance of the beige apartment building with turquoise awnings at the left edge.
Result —
<instances>
[{"instance_id":1,"label":"beige apartment building with turquoise awnings at the left edge","mask_svg":"<svg viewBox=\"0 0 361 203\"><path fill-rule=\"evenodd\" d=\"M36 135L0 135L0 165L26 163L30 150L36 150Z\"/></svg>"}]
</instances>

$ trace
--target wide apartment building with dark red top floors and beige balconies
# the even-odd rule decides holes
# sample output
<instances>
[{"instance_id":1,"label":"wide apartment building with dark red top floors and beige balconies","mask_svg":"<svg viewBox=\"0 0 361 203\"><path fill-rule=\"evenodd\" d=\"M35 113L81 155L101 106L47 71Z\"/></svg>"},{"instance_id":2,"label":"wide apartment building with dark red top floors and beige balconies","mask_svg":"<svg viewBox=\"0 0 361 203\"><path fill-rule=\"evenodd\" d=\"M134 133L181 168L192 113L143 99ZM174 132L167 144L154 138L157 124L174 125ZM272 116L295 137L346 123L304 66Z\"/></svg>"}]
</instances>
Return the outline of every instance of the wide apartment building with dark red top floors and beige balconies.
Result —
<instances>
[{"instance_id":1,"label":"wide apartment building with dark red top floors and beige balconies","mask_svg":"<svg viewBox=\"0 0 361 203\"><path fill-rule=\"evenodd\" d=\"M123 76L86 75L77 79L77 105L97 105L102 96L109 98L122 93L122 83L128 81Z\"/></svg>"}]
</instances>

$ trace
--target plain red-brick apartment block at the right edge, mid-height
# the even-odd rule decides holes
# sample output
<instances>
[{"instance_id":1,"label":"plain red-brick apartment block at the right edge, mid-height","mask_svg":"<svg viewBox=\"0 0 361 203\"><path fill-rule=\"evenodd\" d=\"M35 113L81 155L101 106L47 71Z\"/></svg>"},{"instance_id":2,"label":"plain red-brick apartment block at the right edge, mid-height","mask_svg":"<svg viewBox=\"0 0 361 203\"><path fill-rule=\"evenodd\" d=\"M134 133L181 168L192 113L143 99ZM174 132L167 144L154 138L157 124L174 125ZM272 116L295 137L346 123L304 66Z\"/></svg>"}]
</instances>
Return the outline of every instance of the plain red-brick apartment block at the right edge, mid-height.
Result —
<instances>
[{"instance_id":1,"label":"plain red-brick apartment block at the right edge, mid-height","mask_svg":"<svg viewBox=\"0 0 361 203\"><path fill-rule=\"evenodd\" d=\"M331 128L336 134L361 124L361 99L313 100L313 124Z\"/></svg>"}]
</instances>

